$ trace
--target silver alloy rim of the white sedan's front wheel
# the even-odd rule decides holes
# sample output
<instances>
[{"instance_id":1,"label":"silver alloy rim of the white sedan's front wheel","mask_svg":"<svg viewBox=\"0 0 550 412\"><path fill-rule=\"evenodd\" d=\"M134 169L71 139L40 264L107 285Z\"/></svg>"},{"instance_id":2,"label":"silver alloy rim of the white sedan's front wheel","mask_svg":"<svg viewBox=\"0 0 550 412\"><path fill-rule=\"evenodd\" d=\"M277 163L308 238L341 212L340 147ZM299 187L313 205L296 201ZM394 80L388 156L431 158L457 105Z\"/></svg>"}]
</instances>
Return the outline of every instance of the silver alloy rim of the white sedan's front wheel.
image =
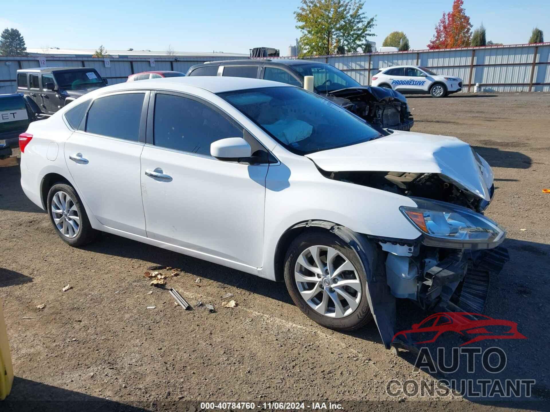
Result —
<instances>
[{"instance_id":1,"label":"silver alloy rim of the white sedan's front wheel","mask_svg":"<svg viewBox=\"0 0 550 412\"><path fill-rule=\"evenodd\" d=\"M302 298L317 313L344 318L359 307L361 282L353 264L338 250L311 246L300 253L294 279Z\"/></svg>"}]
</instances>

